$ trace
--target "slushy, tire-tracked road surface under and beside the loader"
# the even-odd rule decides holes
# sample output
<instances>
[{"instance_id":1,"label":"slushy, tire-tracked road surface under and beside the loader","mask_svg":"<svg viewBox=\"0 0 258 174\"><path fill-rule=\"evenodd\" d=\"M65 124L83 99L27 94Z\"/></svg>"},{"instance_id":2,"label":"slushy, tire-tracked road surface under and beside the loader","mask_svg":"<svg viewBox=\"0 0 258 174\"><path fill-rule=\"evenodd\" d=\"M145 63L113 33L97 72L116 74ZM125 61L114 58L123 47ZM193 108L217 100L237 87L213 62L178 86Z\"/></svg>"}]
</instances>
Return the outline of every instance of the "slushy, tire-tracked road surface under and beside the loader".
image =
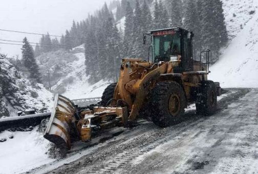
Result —
<instances>
[{"instance_id":1,"label":"slushy, tire-tracked road surface under and beside the loader","mask_svg":"<svg viewBox=\"0 0 258 174\"><path fill-rule=\"evenodd\" d=\"M63 165L59 160L30 172L257 173L258 89L230 91L210 117L189 109L181 123L167 128L142 121L61 160ZM72 160L75 156L80 157Z\"/></svg>"}]
</instances>

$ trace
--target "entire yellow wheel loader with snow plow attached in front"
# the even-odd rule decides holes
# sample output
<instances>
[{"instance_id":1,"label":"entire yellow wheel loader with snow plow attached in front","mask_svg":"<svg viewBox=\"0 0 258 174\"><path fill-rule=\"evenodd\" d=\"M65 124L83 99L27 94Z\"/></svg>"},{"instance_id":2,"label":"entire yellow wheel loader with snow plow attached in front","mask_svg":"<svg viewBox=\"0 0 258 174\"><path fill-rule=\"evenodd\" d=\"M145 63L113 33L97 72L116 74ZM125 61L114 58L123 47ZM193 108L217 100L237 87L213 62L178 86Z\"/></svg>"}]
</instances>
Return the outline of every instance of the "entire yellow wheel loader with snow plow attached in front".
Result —
<instances>
[{"instance_id":1,"label":"entire yellow wheel loader with snow plow attached in front","mask_svg":"<svg viewBox=\"0 0 258 174\"><path fill-rule=\"evenodd\" d=\"M152 118L160 127L173 125L190 103L196 103L197 113L216 112L221 88L207 80L210 51L193 60L192 37L182 28L143 34L149 59L122 59L119 80L104 90L100 106L78 108L57 94L44 137L70 149L73 141L90 141L100 130L130 126L139 117Z\"/></svg>"}]
</instances>

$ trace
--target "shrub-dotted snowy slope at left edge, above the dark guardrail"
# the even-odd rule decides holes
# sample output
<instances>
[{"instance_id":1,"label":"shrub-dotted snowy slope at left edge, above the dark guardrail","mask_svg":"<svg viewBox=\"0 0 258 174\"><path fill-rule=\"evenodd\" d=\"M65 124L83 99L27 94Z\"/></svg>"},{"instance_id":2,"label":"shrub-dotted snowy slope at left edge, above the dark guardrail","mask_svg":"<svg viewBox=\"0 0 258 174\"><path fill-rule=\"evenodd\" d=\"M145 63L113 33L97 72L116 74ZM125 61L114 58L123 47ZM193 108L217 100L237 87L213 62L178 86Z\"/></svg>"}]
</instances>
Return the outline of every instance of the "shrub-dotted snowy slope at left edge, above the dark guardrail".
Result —
<instances>
[{"instance_id":1,"label":"shrub-dotted snowy slope at left edge, above the dark guardrail","mask_svg":"<svg viewBox=\"0 0 258 174\"><path fill-rule=\"evenodd\" d=\"M53 103L51 92L42 84L25 79L5 56L1 55L0 66L0 117L31 108L37 112L49 111Z\"/></svg>"}]
</instances>

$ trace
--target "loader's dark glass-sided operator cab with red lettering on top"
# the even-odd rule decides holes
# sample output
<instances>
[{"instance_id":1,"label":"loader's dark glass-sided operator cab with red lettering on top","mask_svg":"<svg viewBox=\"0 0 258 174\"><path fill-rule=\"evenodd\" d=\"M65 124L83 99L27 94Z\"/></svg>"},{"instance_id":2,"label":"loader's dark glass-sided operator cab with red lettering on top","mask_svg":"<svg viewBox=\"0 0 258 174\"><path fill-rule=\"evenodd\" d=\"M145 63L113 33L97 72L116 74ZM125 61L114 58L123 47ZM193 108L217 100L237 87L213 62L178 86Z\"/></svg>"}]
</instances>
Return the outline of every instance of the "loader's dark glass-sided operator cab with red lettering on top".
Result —
<instances>
[{"instance_id":1,"label":"loader's dark glass-sided operator cab with red lettering on top","mask_svg":"<svg viewBox=\"0 0 258 174\"><path fill-rule=\"evenodd\" d=\"M179 66L175 67L176 73L193 70L191 31L177 27L151 30L148 35L151 38L152 62L179 61ZM146 36L143 38L146 44Z\"/></svg>"}]
</instances>

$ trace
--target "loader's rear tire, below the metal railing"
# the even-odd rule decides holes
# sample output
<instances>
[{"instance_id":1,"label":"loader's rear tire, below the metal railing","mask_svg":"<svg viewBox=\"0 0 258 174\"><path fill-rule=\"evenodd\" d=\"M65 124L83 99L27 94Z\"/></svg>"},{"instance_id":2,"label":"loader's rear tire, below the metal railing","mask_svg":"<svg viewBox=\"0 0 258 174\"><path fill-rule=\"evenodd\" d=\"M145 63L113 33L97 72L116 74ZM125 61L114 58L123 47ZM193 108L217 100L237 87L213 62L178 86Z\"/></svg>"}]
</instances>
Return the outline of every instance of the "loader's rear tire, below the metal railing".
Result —
<instances>
[{"instance_id":1,"label":"loader's rear tire, below the metal railing","mask_svg":"<svg viewBox=\"0 0 258 174\"><path fill-rule=\"evenodd\" d=\"M214 82L204 81L200 99L196 103L196 113L211 115L217 111L217 91Z\"/></svg>"}]
</instances>

